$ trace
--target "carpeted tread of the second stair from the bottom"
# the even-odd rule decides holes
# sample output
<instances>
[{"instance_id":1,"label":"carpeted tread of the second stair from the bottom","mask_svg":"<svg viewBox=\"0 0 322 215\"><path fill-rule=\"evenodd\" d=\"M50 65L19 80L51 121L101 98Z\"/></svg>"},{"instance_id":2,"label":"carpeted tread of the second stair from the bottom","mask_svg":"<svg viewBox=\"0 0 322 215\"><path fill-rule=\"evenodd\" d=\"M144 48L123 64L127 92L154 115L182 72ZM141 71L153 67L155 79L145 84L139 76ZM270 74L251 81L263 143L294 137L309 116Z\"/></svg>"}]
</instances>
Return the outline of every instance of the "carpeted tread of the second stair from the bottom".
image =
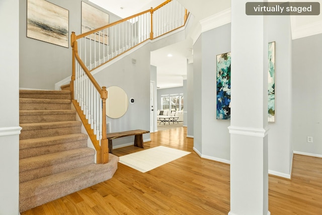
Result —
<instances>
[{"instance_id":1,"label":"carpeted tread of the second stair from the bottom","mask_svg":"<svg viewBox=\"0 0 322 215\"><path fill-rule=\"evenodd\" d=\"M87 147L75 150L68 150L64 152L51 153L48 155L41 155L31 158L24 158L19 160L19 172L41 168L49 165L55 165L69 160L75 160L78 158L83 158L92 155L95 155L95 150Z\"/></svg>"}]
</instances>

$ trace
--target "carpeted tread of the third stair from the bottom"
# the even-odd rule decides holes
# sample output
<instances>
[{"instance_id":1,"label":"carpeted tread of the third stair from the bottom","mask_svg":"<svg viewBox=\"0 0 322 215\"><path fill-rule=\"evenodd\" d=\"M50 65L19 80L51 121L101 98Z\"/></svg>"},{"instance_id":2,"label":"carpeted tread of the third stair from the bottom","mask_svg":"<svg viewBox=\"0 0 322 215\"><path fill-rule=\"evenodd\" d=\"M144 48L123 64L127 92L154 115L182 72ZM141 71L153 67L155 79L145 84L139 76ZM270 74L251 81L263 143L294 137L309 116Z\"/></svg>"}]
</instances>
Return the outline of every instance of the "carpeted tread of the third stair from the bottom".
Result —
<instances>
[{"instance_id":1,"label":"carpeted tread of the third stair from the bottom","mask_svg":"<svg viewBox=\"0 0 322 215\"><path fill-rule=\"evenodd\" d=\"M61 144L62 142L71 142L88 139L88 135L85 133L71 133L59 136L47 136L32 139L21 139L19 141L20 150L28 148L43 147L49 145Z\"/></svg>"}]
</instances>

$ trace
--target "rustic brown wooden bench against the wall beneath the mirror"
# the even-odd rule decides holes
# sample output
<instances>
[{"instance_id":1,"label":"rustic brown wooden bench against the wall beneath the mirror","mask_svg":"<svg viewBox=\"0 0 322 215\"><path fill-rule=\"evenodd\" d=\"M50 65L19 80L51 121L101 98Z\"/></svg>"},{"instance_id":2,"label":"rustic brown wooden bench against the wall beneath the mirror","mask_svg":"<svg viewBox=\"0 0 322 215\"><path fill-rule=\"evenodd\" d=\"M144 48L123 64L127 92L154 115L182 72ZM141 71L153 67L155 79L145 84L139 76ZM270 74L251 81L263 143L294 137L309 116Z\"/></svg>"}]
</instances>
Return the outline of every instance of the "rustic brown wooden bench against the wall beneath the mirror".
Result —
<instances>
[{"instance_id":1,"label":"rustic brown wooden bench against the wall beneath the mirror","mask_svg":"<svg viewBox=\"0 0 322 215\"><path fill-rule=\"evenodd\" d=\"M121 132L115 132L115 133L107 133L107 139L109 140L109 153L113 152L113 145L112 145L112 139L125 137L125 136L132 136L134 137L134 146L139 148L144 148L143 146L143 133L149 133L148 130L128 130L128 131L121 131Z\"/></svg>"}]
</instances>

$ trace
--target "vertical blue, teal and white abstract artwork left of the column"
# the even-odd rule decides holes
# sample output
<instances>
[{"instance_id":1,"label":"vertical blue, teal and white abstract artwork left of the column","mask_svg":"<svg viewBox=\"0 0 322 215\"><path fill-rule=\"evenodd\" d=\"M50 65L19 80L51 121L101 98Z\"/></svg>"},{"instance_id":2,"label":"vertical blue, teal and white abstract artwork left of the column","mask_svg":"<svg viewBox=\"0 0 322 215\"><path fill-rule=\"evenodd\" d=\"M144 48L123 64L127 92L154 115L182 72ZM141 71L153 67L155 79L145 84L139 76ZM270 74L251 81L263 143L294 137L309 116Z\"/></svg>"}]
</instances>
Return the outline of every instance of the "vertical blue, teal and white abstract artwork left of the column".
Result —
<instances>
[{"instance_id":1,"label":"vertical blue, teal and white abstract artwork left of the column","mask_svg":"<svg viewBox=\"0 0 322 215\"><path fill-rule=\"evenodd\" d=\"M217 119L230 119L230 55L217 55Z\"/></svg>"}]
</instances>

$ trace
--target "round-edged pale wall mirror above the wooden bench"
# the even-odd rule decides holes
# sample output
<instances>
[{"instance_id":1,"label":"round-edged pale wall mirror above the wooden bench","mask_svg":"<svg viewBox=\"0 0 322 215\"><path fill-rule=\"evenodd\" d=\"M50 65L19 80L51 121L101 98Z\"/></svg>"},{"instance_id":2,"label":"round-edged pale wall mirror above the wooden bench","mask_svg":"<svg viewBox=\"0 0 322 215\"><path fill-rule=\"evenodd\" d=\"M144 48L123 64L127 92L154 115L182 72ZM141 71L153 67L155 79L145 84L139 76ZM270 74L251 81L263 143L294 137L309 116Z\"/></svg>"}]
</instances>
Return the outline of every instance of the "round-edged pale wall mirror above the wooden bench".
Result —
<instances>
[{"instance_id":1,"label":"round-edged pale wall mirror above the wooden bench","mask_svg":"<svg viewBox=\"0 0 322 215\"><path fill-rule=\"evenodd\" d=\"M120 118L127 111L129 102L125 91L117 86L107 88L106 115L110 118Z\"/></svg>"}]
</instances>

